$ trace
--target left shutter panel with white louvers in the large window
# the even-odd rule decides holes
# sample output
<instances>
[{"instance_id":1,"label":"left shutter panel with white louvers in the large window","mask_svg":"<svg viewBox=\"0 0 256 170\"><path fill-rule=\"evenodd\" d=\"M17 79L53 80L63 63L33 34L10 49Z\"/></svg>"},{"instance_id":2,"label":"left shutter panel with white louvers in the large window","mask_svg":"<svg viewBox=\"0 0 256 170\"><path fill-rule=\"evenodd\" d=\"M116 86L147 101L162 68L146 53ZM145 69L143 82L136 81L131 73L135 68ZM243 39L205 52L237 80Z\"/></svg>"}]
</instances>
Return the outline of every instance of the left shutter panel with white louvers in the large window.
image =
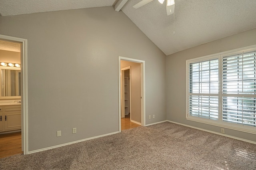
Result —
<instances>
[{"instance_id":1,"label":"left shutter panel with white louvers in the large window","mask_svg":"<svg viewBox=\"0 0 256 170\"><path fill-rule=\"evenodd\" d=\"M189 115L218 119L218 59L189 64Z\"/></svg>"}]
</instances>

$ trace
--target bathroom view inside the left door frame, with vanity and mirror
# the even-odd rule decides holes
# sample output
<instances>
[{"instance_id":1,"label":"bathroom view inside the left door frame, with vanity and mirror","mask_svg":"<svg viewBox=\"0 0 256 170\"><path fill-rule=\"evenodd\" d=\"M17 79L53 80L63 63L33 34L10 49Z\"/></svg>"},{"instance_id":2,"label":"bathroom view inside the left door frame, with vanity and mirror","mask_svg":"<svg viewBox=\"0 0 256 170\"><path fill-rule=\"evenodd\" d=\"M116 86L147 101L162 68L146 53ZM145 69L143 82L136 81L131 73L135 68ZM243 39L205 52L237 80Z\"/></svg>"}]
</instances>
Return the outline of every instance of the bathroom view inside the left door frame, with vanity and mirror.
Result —
<instances>
[{"instance_id":1,"label":"bathroom view inside the left door frame, with vanity and mirror","mask_svg":"<svg viewBox=\"0 0 256 170\"><path fill-rule=\"evenodd\" d=\"M0 40L0 158L20 154L22 43Z\"/></svg>"}]
</instances>

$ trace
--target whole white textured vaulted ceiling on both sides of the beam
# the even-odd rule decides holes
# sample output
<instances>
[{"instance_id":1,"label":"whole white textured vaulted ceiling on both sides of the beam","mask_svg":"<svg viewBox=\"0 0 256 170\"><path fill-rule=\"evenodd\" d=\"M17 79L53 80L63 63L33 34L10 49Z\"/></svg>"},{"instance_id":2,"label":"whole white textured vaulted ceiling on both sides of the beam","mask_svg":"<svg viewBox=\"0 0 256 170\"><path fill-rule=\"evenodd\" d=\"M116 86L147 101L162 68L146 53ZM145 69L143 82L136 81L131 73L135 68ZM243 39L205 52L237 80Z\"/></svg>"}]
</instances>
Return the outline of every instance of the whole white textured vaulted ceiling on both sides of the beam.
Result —
<instances>
[{"instance_id":1,"label":"whole white textured vaulted ceiling on both sides of the beam","mask_svg":"<svg viewBox=\"0 0 256 170\"><path fill-rule=\"evenodd\" d=\"M113 6L117 1L0 0L0 13L8 16ZM121 10L166 55L256 28L256 0L175 0L175 21L173 15L166 15L165 3L154 0L132 8L138 2L128 0Z\"/></svg>"}]
</instances>

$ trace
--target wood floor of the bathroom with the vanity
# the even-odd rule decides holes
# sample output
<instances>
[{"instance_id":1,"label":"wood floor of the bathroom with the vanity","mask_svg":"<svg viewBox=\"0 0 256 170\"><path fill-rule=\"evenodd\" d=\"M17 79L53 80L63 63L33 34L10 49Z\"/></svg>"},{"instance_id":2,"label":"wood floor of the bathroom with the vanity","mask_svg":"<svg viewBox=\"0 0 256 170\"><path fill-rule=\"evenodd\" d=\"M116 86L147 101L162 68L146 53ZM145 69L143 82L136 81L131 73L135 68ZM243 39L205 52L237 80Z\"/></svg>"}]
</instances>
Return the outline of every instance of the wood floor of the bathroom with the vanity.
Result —
<instances>
[{"instance_id":1,"label":"wood floor of the bathroom with the vanity","mask_svg":"<svg viewBox=\"0 0 256 170\"><path fill-rule=\"evenodd\" d=\"M21 132L0 134L0 158L23 153Z\"/></svg>"}]
</instances>

